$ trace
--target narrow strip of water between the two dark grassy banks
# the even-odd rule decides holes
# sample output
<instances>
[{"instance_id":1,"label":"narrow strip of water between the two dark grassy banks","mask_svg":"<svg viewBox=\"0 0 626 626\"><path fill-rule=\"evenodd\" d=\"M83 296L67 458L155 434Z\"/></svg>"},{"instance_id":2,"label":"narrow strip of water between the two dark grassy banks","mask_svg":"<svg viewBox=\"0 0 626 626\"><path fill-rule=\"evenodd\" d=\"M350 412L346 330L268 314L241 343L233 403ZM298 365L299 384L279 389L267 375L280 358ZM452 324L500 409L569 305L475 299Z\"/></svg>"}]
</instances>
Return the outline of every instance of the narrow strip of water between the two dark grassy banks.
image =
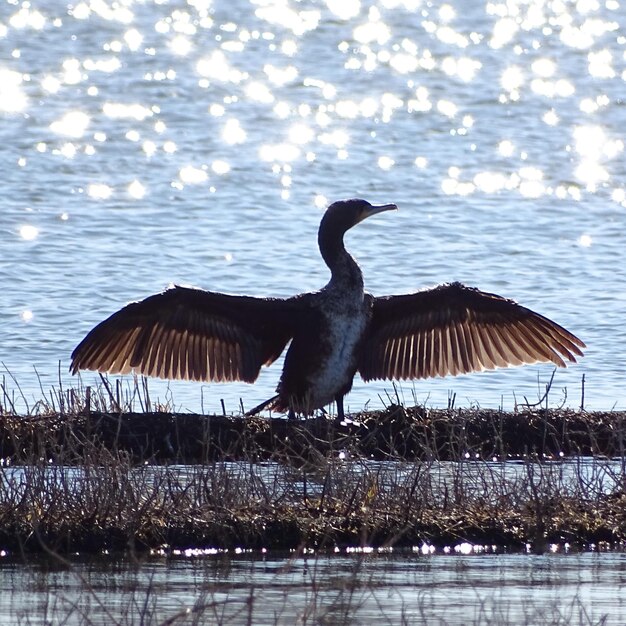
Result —
<instances>
[{"instance_id":1,"label":"narrow strip of water between the two dark grassy banks","mask_svg":"<svg viewBox=\"0 0 626 626\"><path fill-rule=\"evenodd\" d=\"M386 489L414 480L416 468L419 468L428 475L429 490L442 498L449 486L458 481L489 499L499 497L502 491L516 491L520 484L531 480L537 485L551 485L562 496L567 494L572 498L594 500L601 495L619 494L626 469L626 461L621 458L576 457L543 463L468 459L416 464L342 460L345 454L339 451L337 459L329 460L327 470L315 466L296 468L275 462L225 461L209 465L141 465L129 469L128 476L120 474L118 478L124 482L128 479L141 493L158 490L158 485L164 482L169 488L184 491L194 481L203 482L203 476L213 474L222 480L232 480L234 484L241 481L241 489L253 485L254 492L272 494L274 501L299 502L303 496L323 494L328 489L330 475L333 480L345 484L354 484L366 477L375 480L378 488ZM67 497L67 490L79 494L89 492L94 474L97 476L97 468L83 466L0 465L0 503L3 498L21 500L32 489L33 483L40 485L42 492L54 492L55 488L61 487L63 497Z\"/></svg>"}]
</instances>

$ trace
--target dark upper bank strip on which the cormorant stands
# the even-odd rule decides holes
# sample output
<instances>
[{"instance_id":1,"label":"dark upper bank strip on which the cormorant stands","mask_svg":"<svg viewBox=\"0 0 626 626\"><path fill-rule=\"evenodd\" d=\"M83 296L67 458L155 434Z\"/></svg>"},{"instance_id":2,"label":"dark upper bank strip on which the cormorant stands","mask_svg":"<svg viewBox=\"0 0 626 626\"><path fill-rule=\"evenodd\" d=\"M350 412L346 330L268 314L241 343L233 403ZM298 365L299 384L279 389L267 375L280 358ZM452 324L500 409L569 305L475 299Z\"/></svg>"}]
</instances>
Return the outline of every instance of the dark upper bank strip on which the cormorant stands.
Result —
<instances>
[{"instance_id":1,"label":"dark upper bank strip on which the cormorant stands","mask_svg":"<svg viewBox=\"0 0 626 626\"><path fill-rule=\"evenodd\" d=\"M0 458L82 463L93 446L123 451L136 463L219 460L310 462L319 457L408 461L620 457L626 412L567 409L503 412L391 406L337 425L307 420L176 413L0 416Z\"/></svg>"}]
</instances>

